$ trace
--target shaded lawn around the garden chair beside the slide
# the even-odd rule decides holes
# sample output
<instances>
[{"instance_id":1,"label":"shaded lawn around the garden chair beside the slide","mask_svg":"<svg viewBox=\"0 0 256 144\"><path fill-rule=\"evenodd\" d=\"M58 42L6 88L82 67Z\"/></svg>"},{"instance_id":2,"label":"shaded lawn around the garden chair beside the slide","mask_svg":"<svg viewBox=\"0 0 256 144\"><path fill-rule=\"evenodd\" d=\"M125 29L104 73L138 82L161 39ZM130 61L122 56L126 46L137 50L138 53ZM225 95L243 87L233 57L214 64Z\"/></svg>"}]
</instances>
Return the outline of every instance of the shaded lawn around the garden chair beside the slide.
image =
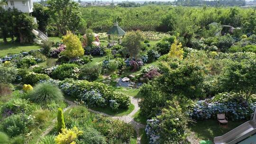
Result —
<instances>
[{"instance_id":1,"label":"shaded lawn around the garden chair beside the slide","mask_svg":"<svg viewBox=\"0 0 256 144\"><path fill-rule=\"evenodd\" d=\"M217 120L197 121L189 125L191 131L195 132L195 135L200 140L210 140L213 142L215 136L223 135L235 127L245 123L246 120L241 121L229 121L228 125L219 125Z\"/></svg>"}]
</instances>

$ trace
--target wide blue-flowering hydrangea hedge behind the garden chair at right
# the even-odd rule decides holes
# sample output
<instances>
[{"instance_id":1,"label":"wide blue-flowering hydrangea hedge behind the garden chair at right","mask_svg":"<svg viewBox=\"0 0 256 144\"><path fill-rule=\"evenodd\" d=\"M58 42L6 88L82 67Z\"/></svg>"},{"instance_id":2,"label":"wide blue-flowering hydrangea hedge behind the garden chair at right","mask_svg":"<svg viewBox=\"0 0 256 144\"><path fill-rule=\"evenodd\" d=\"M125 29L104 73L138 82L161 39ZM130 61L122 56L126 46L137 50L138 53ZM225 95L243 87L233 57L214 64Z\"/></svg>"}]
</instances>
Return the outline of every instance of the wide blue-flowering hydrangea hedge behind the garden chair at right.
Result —
<instances>
[{"instance_id":1,"label":"wide blue-flowering hydrangea hedge behind the garden chair at right","mask_svg":"<svg viewBox=\"0 0 256 144\"><path fill-rule=\"evenodd\" d=\"M221 99L219 98L222 97ZM233 94L219 94L211 99L199 100L189 113L195 119L209 119L219 113L225 113L232 120L249 118L254 112L256 102L241 103Z\"/></svg>"}]
</instances>

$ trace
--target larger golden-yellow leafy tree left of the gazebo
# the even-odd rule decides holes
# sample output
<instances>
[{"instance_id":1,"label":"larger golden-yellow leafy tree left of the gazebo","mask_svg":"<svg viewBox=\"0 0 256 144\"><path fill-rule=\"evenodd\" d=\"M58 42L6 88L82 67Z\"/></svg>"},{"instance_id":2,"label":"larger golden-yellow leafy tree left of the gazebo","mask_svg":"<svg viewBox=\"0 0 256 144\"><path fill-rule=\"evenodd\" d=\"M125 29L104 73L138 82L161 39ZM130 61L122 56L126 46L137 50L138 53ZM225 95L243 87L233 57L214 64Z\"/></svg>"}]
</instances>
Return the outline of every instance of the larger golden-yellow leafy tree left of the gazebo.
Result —
<instances>
[{"instance_id":1,"label":"larger golden-yellow leafy tree left of the gazebo","mask_svg":"<svg viewBox=\"0 0 256 144\"><path fill-rule=\"evenodd\" d=\"M66 36L63 36L63 43L66 45L66 49L63 54L68 58L75 58L83 55L84 50L82 48L81 41L78 36L74 35L70 31L67 32Z\"/></svg>"}]
</instances>

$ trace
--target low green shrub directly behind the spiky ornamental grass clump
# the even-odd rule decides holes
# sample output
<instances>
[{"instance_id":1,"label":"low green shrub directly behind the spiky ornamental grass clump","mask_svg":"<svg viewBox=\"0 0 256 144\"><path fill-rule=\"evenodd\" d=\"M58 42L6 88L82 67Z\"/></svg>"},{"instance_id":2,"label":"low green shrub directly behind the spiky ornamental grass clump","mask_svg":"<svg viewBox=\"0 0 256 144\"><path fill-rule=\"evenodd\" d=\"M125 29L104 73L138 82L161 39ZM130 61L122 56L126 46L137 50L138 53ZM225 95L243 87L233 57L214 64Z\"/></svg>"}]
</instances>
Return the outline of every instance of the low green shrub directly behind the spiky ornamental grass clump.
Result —
<instances>
[{"instance_id":1,"label":"low green shrub directly behind the spiky ornamental grass clump","mask_svg":"<svg viewBox=\"0 0 256 144\"><path fill-rule=\"evenodd\" d=\"M46 80L49 80L49 79L50 79L50 77L46 74L29 72L23 78L23 82L27 83L27 84L35 85L39 81L46 81Z\"/></svg>"}]
</instances>

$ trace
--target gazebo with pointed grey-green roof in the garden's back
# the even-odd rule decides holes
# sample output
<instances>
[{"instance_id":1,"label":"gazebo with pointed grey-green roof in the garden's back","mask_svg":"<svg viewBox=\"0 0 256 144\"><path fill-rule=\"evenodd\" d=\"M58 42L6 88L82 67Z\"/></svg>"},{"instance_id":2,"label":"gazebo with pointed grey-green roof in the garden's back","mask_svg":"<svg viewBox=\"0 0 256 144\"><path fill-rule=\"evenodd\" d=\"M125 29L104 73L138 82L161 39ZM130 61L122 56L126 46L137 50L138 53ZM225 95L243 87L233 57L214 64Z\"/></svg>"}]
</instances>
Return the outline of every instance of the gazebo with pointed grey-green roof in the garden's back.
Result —
<instances>
[{"instance_id":1,"label":"gazebo with pointed grey-green roof in the garden's back","mask_svg":"<svg viewBox=\"0 0 256 144\"><path fill-rule=\"evenodd\" d=\"M112 40L112 45L114 45L117 40L120 43L120 37L125 35L125 31L118 26L118 22L114 23L114 26L110 28L110 30L107 32L108 35L108 41L110 42L110 36L116 37Z\"/></svg>"}]
</instances>

